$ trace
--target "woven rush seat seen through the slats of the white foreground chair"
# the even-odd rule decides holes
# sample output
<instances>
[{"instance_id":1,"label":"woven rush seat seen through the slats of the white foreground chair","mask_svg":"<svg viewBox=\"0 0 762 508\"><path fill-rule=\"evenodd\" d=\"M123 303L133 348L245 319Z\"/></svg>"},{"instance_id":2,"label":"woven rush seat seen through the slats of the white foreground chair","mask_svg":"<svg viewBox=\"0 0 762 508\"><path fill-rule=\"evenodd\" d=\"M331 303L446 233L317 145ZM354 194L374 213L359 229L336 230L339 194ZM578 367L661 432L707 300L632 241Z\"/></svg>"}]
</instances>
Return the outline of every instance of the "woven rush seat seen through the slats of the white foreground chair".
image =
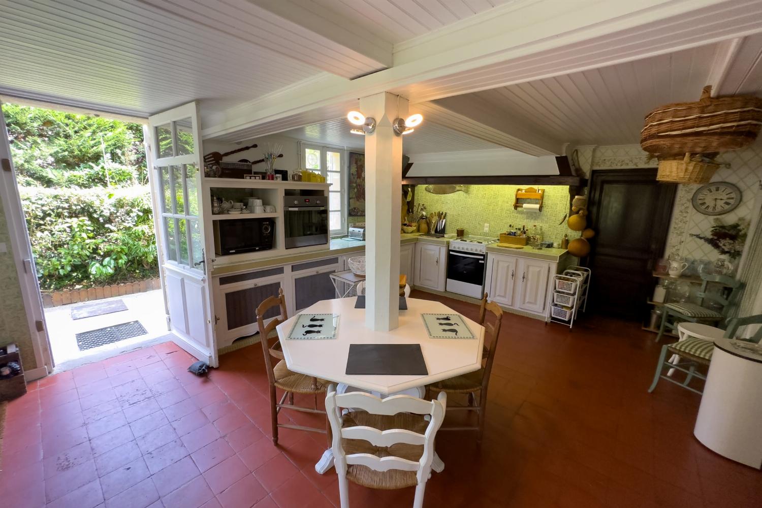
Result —
<instances>
[{"instance_id":1,"label":"woven rush seat seen through the slats of the white foreground chair","mask_svg":"<svg viewBox=\"0 0 762 508\"><path fill-rule=\"evenodd\" d=\"M373 427L377 430L405 429L418 434L425 434L428 422L419 414L398 413L394 415L370 414L366 411L350 411L341 420L341 427ZM341 439L341 448L346 455L354 453L368 453L376 457L395 456L418 461L423 455L424 447L421 445L408 445L395 443L388 448L386 446L373 446L363 439ZM355 484L372 489L393 490L405 487L415 487L418 478L415 471L401 471L390 469L389 471L373 471L364 465L347 465L347 479Z\"/></svg>"}]
</instances>

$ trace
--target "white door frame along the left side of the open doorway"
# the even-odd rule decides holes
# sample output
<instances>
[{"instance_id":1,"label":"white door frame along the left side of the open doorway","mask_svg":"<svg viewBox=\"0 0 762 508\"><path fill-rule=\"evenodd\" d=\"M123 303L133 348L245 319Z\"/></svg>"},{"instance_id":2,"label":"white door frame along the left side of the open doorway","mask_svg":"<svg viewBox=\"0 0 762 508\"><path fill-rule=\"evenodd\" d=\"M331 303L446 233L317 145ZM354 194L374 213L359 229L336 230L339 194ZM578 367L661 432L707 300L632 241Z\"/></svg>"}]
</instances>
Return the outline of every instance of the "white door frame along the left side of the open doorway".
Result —
<instances>
[{"instance_id":1,"label":"white door frame along the left side of the open doorway","mask_svg":"<svg viewBox=\"0 0 762 508\"><path fill-rule=\"evenodd\" d=\"M21 207L21 197L18 194L16 171L11 158L8 144L8 129L2 114L0 103L0 200L8 223L8 235L11 240L10 252L16 265L21 298L24 300L27 326L32 339L36 369L24 369L27 381L45 377L53 372L53 356L50 354L50 339L47 334L43 300L40 294L40 282L37 280L37 268L34 266L32 246L27 232L27 222L24 219L24 209ZM7 254L0 253L0 256Z\"/></svg>"}]
</instances>

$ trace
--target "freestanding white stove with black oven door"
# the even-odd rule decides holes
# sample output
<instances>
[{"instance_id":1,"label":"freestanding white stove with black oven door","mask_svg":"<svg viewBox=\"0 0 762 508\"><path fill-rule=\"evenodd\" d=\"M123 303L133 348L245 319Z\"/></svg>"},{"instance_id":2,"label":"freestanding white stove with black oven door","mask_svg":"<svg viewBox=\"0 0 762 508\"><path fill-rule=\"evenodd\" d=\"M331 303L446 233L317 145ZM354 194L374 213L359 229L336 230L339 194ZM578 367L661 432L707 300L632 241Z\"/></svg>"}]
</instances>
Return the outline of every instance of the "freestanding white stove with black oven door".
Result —
<instances>
[{"instance_id":1,"label":"freestanding white stove with black oven door","mask_svg":"<svg viewBox=\"0 0 762 508\"><path fill-rule=\"evenodd\" d=\"M486 236L465 236L451 240L447 251L447 291L482 298L487 246L496 243L497 238Z\"/></svg>"}]
</instances>

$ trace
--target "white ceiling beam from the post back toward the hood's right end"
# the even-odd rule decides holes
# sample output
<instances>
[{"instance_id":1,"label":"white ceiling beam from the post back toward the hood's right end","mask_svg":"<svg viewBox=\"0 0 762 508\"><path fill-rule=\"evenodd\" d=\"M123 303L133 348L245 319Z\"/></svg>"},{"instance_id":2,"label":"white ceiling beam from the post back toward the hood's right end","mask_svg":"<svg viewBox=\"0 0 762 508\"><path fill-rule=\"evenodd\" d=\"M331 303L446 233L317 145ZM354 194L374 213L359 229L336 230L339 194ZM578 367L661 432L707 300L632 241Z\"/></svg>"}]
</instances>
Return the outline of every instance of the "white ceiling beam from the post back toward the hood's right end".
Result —
<instances>
[{"instance_id":1,"label":"white ceiling beam from the post back toward the hood's right end","mask_svg":"<svg viewBox=\"0 0 762 508\"><path fill-rule=\"evenodd\" d=\"M485 107L479 97L461 95L411 105L412 113L459 133L514 149L529 155L561 155L562 141L545 133L520 126L494 108Z\"/></svg>"}]
</instances>

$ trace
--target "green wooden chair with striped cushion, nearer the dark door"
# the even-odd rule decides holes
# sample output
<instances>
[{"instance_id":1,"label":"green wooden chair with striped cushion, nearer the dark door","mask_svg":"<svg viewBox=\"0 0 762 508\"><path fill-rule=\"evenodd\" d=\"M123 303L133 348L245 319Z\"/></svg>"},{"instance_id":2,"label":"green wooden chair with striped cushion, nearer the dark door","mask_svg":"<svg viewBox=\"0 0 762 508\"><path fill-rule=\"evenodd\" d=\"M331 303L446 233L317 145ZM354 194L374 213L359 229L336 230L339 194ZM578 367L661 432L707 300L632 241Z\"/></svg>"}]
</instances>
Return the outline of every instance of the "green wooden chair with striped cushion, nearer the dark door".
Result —
<instances>
[{"instance_id":1,"label":"green wooden chair with striped cushion, nearer the dark door","mask_svg":"<svg viewBox=\"0 0 762 508\"><path fill-rule=\"evenodd\" d=\"M661 317L661 326L656 336L656 342L661 340L664 331L677 331L677 324L683 321L692 323L709 324L718 326L725 320L725 316L735 302L741 282L725 275L702 275L701 289L697 293L699 303L667 303L664 304L664 314ZM710 283L722 286L721 292L707 292ZM703 306L705 301L715 302L722 306L722 312Z\"/></svg>"}]
</instances>

